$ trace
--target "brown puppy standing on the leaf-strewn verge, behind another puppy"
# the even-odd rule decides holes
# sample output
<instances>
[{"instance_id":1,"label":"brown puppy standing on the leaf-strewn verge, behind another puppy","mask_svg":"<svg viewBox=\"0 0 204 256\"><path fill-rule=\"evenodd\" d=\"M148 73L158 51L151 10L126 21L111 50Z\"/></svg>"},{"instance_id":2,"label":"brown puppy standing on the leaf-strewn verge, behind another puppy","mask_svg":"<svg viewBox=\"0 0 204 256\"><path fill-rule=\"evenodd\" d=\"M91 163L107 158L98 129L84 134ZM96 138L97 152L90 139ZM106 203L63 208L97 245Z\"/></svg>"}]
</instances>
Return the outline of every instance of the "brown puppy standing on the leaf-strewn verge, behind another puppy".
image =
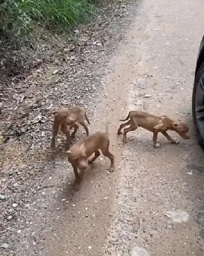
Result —
<instances>
[{"instance_id":1,"label":"brown puppy standing on the leaf-strewn verge, behind another puppy","mask_svg":"<svg viewBox=\"0 0 204 256\"><path fill-rule=\"evenodd\" d=\"M51 141L51 147L55 147L55 137L57 136L58 130L61 126L61 131L66 135L66 148L65 150L70 149L71 144L71 138L70 138L70 130L74 127L74 131L72 133L72 137L74 137L75 133L78 130L78 125L81 124L84 126L86 130L86 135L89 136L89 130L84 123L84 120L86 119L87 122L90 124L86 112L81 107L71 107L71 108L65 108L61 107L57 111L54 111L55 117L54 117L54 124L53 124L53 136Z\"/></svg>"}]
</instances>

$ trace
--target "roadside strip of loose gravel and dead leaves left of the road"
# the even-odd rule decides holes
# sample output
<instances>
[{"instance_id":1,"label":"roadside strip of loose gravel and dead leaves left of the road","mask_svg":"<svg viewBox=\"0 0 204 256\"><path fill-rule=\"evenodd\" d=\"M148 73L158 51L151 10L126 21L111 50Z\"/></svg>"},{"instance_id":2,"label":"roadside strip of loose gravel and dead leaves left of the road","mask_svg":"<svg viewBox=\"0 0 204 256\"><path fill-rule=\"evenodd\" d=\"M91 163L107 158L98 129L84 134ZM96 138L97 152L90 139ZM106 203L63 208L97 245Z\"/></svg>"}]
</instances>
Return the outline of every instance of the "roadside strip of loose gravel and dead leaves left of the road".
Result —
<instances>
[{"instance_id":1,"label":"roadside strip of loose gravel and dead leaves left of the road","mask_svg":"<svg viewBox=\"0 0 204 256\"><path fill-rule=\"evenodd\" d=\"M51 111L62 104L80 105L92 120L105 84L101 77L118 41L123 40L130 7L104 3L104 11L92 24L76 29L69 40L50 38L46 61L36 60L35 68L9 78L0 91L0 184L5 193L0 197L0 254L43 255L48 232L44 224L55 211L55 201L61 200L63 185L71 184L66 159L53 161L45 151L50 146ZM58 137L58 149L64 146L62 139ZM56 168L63 172L53 177L51 170ZM62 203L68 207L71 202L63 199Z\"/></svg>"}]
</instances>

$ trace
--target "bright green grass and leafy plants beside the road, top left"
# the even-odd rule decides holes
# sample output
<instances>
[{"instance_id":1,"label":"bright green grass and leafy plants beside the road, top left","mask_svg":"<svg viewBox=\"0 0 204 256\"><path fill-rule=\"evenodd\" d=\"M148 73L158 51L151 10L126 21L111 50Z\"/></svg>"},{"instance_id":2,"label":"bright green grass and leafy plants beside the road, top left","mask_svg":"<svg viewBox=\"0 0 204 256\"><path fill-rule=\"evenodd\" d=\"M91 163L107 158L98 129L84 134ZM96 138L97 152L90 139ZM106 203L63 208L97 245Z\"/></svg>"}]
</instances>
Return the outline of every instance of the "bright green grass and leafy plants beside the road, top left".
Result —
<instances>
[{"instance_id":1,"label":"bright green grass and leafy plants beside the road, top left","mask_svg":"<svg viewBox=\"0 0 204 256\"><path fill-rule=\"evenodd\" d=\"M35 27L67 32L95 12L91 0L0 0L1 33L22 38Z\"/></svg>"}]
</instances>

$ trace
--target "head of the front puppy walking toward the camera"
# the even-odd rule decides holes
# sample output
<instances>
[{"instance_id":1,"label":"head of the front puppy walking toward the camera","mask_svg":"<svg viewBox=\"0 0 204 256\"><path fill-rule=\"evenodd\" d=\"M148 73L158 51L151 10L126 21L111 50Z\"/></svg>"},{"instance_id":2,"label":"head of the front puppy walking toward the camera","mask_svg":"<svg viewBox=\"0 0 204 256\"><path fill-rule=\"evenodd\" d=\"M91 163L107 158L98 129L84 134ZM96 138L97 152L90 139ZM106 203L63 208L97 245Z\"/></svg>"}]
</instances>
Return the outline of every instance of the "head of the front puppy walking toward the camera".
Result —
<instances>
[{"instance_id":1,"label":"head of the front puppy walking toward the camera","mask_svg":"<svg viewBox=\"0 0 204 256\"><path fill-rule=\"evenodd\" d=\"M76 166L81 171L86 170L88 167L88 161L86 157L86 152L84 148L84 143L81 145L74 145L71 147L70 151L66 152L68 160L74 166Z\"/></svg>"}]
</instances>

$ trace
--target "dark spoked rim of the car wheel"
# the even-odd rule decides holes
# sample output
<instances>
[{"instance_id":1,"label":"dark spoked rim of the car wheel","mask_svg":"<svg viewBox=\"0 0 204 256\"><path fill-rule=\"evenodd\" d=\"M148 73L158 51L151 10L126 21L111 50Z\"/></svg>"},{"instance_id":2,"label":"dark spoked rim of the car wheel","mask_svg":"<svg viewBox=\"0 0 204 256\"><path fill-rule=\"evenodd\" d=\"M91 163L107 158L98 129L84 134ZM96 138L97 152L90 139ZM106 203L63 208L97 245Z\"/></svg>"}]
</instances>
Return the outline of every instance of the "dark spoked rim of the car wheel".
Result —
<instances>
[{"instance_id":1,"label":"dark spoked rim of the car wheel","mask_svg":"<svg viewBox=\"0 0 204 256\"><path fill-rule=\"evenodd\" d=\"M196 87L195 117L199 133L204 138L204 72L201 74Z\"/></svg>"}]
</instances>

